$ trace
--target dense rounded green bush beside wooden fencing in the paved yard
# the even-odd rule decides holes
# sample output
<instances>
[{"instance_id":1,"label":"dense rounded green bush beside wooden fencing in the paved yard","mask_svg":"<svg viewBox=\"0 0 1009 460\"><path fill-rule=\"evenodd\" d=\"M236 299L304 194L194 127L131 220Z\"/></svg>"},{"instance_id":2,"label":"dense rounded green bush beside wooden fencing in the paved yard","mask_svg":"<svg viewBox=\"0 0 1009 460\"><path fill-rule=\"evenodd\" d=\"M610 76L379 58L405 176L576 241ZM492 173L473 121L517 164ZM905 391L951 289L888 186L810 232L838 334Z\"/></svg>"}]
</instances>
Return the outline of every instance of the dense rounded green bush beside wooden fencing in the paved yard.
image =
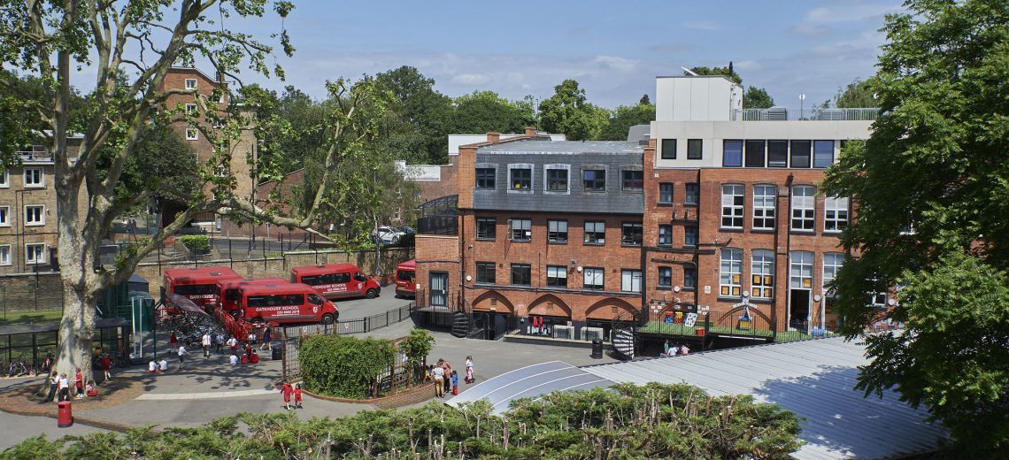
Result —
<instances>
[{"instance_id":1,"label":"dense rounded green bush beside wooden fencing in the paved yard","mask_svg":"<svg viewBox=\"0 0 1009 460\"><path fill-rule=\"evenodd\" d=\"M396 348L388 340L319 335L302 341L298 359L309 391L364 398L375 376L393 365Z\"/></svg>"}]
</instances>

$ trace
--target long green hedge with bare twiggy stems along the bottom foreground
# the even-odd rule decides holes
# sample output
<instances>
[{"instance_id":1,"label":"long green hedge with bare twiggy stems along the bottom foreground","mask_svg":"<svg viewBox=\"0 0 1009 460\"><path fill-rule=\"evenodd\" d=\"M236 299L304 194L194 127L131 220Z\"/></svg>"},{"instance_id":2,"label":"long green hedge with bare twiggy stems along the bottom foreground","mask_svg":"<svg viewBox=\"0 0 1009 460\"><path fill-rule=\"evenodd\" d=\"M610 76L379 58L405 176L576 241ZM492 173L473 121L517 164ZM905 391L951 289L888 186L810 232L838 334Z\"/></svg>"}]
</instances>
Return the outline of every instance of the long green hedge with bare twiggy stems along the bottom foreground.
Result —
<instances>
[{"instance_id":1,"label":"long green hedge with bare twiggy stems along the bottom foreground","mask_svg":"<svg viewBox=\"0 0 1009 460\"><path fill-rule=\"evenodd\" d=\"M712 397L688 385L649 384L524 399L507 418L493 415L485 400L459 410L432 402L335 420L240 414L158 434L91 435L63 443L36 438L7 457L48 460L105 446L106 457L127 457L133 450L149 459L316 458L329 440L332 458L354 459L393 458L394 450L396 458L785 459L799 447L798 433L794 415L751 396Z\"/></svg>"}]
</instances>

